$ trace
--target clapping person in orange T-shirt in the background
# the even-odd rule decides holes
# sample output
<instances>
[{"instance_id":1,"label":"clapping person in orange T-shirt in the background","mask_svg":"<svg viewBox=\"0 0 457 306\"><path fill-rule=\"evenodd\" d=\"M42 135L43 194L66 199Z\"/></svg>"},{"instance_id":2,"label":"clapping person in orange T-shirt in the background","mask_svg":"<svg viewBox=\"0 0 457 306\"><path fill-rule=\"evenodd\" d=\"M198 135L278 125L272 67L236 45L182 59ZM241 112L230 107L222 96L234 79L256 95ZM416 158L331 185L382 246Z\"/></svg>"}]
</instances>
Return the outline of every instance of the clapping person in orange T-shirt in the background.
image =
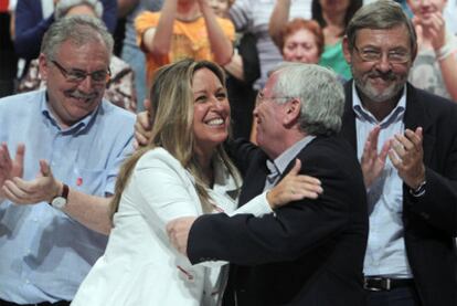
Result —
<instances>
[{"instance_id":1,"label":"clapping person in orange T-shirt in the background","mask_svg":"<svg viewBox=\"0 0 457 306\"><path fill-rule=\"evenodd\" d=\"M233 23L216 17L208 0L166 0L160 12L140 13L135 28L148 84L162 65L187 57L225 65L233 54Z\"/></svg>"}]
</instances>

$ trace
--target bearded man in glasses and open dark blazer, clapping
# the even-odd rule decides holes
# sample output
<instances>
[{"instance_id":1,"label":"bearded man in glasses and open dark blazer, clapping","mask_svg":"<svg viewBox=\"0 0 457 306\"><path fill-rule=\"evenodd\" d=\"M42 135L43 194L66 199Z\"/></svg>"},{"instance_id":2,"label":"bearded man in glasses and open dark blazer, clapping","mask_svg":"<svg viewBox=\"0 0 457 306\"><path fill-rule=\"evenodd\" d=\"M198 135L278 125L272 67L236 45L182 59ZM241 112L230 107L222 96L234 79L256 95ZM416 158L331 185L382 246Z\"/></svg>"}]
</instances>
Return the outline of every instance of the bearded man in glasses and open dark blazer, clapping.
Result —
<instances>
[{"instance_id":1,"label":"bearded man in glasses and open dark blazer, clapping","mask_svg":"<svg viewBox=\"0 0 457 306\"><path fill-rule=\"evenodd\" d=\"M457 107L406 82L416 34L393 1L355 13L343 52L353 82L342 134L368 190L369 305L457 305Z\"/></svg>"}]
</instances>

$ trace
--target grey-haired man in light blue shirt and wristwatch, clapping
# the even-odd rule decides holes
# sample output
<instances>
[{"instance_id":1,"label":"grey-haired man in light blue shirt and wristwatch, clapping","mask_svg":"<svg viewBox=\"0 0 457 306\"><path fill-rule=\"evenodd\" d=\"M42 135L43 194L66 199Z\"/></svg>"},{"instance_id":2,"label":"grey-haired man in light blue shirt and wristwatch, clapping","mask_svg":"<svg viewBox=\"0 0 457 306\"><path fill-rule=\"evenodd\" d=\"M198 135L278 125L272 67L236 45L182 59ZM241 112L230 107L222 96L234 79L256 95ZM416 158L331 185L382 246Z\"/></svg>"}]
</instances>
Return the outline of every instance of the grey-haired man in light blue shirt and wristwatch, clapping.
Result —
<instances>
[{"instance_id":1,"label":"grey-haired man in light blue shirt and wristwatch, clapping","mask_svg":"<svg viewBox=\"0 0 457 306\"><path fill-rule=\"evenodd\" d=\"M99 20L64 18L43 38L45 91L0 101L0 305L68 305L103 254L135 123L103 101L111 50Z\"/></svg>"}]
</instances>

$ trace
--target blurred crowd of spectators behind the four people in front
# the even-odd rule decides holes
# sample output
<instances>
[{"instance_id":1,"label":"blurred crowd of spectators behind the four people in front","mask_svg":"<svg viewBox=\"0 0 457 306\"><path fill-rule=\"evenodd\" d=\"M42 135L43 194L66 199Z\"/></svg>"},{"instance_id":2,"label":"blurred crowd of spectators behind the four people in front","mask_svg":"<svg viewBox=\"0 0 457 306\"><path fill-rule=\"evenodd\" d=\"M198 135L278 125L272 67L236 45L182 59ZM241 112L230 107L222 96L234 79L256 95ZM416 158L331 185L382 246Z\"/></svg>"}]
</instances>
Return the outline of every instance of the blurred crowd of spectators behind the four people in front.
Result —
<instances>
[{"instance_id":1,"label":"blurred crowd of spectators behind the four people in front","mask_svg":"<svg viewBox=\"0 0 457 306\"><path fill-rule=\"evenodd\" d=\"M453 84L457 72L453 66L457 60L447 55L456 49L457 25L451 17L457 4L453 0L397 1L414 21L419 36L419 53L410 82L456 101ZM8 39L2 44L8 65L3 67L0 83L3 94L0 96L6 96L43 86L33 60L38 59L44 32L66 11L84 13L86 9L67 10L62 4L57 8L59 0L2 2L2 18L9 21L9 31L4 27L2 31L13 44L12 48ZM264 86L267 74L283 61L316 63L317 60L318 64L331 67L342 81L352 77L341 43L348 22L364 3L362 0L265 0L259 6L249 0L77 2L94 10L115 35L118 57L114 56L111 72L120 78L113 77L109 84L117 93L110 94L113 91L108 89L106 94L116 105L132 112L144 110L155 70L184 57L211 60L233 77L227 86L236 115L234 122L240 126L234 134L243 137L252 129L251 113L256 92ZM77 2L65 6L73 7ZM369 2L372 0L365 0ZM299 28L308 28L309 32L298 31ZM285 34L294 34L294 42L285 44ZM315 44L317 54L312 51ZM240 102L240 92L243 102Z\"/></svg>"}]
</instances>

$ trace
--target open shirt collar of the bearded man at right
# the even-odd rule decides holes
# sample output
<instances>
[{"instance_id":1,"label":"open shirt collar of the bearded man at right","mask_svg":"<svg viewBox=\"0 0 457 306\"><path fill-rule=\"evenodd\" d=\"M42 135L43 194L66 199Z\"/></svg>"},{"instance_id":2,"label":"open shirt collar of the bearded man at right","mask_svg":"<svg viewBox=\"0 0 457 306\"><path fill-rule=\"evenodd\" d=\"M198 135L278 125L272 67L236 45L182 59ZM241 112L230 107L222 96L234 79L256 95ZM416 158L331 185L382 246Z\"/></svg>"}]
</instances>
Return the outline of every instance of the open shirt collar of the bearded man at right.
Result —
<instances>
[{"instance_id":1,"label":"open shirt collar of the bearded man at right","mask_svg":"<svg viewBox=\"0 0 457 306\"><path fill-rule=\"evenodd\" d=\"M360 99L359 93L355 89L355 82L352 83L352 109L355 113L355 116L359 120L369 122L371 124L379 124L381 128L384 128L392 123L397 123L403 120L403 116L406 108L406 86L403 86L402 96L398 99L395 108L381 122L379 123L378 119L368 110Z\"/></svg>"}]
</instances>

